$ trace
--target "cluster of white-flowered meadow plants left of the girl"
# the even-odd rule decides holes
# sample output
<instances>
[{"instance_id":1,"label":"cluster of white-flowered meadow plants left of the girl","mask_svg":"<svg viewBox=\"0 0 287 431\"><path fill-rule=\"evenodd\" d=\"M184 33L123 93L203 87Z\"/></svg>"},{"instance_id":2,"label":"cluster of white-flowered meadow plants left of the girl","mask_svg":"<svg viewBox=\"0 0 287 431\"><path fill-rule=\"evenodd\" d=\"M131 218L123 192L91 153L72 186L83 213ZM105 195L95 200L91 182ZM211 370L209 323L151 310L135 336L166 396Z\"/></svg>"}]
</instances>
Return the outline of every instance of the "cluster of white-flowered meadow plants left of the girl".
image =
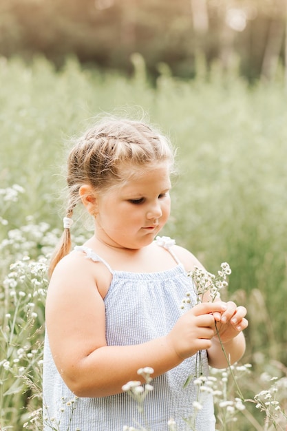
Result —
<instances>
[{"instance_id":1,"label":"cluster of white-flowered meadow plants left of the girl","mask_svg":"<svg viewBox=\"0 0 287 431\"><path fill-rule=\"evenodd\" d=\"M7 229L0 242L0 429L16 430L22 425L36 431L44 421L59 430L59 423L42 411L41 381L47 263L60 232L46 222L37 224L33 216L27 216L23 226L9 229L6 213L20 195L25 197L25 189L19 185L0 189L0 222ZM61 409L68 408L71 417L76 399L62 400Z\"/></svg>"}]
</instances>

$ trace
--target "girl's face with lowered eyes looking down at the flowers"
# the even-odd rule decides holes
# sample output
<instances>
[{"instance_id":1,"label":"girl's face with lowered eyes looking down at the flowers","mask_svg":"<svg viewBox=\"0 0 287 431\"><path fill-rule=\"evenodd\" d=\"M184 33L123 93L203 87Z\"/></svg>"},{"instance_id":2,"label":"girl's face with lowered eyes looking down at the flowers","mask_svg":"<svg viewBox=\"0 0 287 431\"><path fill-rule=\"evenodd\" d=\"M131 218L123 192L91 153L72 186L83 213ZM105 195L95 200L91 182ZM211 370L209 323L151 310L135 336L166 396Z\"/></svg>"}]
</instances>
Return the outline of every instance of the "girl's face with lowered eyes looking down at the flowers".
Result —
<instances>
[{"instance_id":1,"label":"girl's face with lowered eyes looking down at the flowers","mask_svg":"<svg viewBox=\"0 0 287 431\"><path fill-rule=\"evenodd\" d=\"M162 163L98 196L96 238L125 249L151 244L169 218L170 188L169 166Z\"/></svg>"}]
</instances>

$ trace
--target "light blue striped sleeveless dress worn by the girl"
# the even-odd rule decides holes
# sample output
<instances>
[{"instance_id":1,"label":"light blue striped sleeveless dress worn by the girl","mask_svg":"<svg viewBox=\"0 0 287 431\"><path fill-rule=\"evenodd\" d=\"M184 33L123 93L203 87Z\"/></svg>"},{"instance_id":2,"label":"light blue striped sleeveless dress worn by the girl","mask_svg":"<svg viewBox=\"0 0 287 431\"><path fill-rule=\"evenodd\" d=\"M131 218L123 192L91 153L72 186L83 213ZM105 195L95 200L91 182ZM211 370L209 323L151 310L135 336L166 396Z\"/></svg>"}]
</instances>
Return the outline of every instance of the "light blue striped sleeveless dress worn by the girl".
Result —
<instances>
[{"instance_id":1,"label":"light blue striped sleeveless dress worn by the girl","mask_svg":"<svg viewBox=\"0 0 287 431\"><path fill-rule=\"evenodd\" d=\"M169 250L171 240L166 239L158 244ZM177 261L176 256L173 255L177 266L173 269L156 273L132 273L113 271L107 262L85 246L77 246L76 250L85 252L87 258L95 263L103 262L113 276L104 299L108 345L140 344L169 333L182 314L180 305L185 293L193 291L191 278L187 277L184 266ZM206 351L202 352L202 358L204 374L208 375ZM56 370L46 333L44 430L123 431L126 425L140 431L168 431L168 421L172 418L177 431L188 431L191 428L184 418L193 417L193 401L197 399L198 393L193 381L183 388L189 375L195 375L195 356L153 379L153 391L147 395L144 403L145 414L138 412L136 402L126 392L74 401L73 393ZM72 403L69 402L71 400ZM204 394L202 406L196 415L196 431L214 431L213 399L208 392Z\"/></svg>"}]
</instances>

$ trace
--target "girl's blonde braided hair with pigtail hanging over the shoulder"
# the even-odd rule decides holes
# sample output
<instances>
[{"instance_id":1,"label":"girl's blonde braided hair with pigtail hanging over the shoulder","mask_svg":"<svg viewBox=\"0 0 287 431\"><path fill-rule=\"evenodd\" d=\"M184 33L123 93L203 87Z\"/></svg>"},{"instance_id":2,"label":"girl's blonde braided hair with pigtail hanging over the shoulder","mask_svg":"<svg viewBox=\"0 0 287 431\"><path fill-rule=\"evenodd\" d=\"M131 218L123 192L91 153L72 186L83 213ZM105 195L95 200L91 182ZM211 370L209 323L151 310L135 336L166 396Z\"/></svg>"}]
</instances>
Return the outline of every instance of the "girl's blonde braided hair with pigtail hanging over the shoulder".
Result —
<instances>
[{"instance_id":1,"label":"girl's blonde braided hair with pigtail hanging over the shoulder","mask_svg":"<svg viewBox=\"0 0 287 431\"><path fill-rule=\"evenodd\" d=\"M78 139L68 156L66 217L72 218L74 208L81 201L79 189L82 185L105 193L127 180L127 172L153 169L158 162L167 162L171 171L173 161L171 143L149 125L123 118L100 120ZM70 249L70 229L65 228L50 262L50 275Z\"/></svg>"}]
</instances>

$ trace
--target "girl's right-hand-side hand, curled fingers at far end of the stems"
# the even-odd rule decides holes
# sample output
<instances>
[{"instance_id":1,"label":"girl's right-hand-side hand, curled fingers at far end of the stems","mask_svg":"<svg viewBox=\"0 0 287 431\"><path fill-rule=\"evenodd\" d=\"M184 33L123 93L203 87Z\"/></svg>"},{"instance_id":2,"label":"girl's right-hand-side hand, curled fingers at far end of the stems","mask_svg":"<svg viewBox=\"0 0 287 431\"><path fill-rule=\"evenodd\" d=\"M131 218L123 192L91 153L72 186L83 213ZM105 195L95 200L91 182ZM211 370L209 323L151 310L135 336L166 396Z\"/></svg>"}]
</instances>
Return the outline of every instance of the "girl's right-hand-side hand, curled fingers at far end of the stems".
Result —
<instances>
[{"instance_id":1,"label":"girl's right-hand-side hand, curled fingers at far end of the stems","mask_svg":"<svg viewBox=\"0 0 287 431\"><path fill-rule=\"evenodd\" d=\"M237 307L235 302L232 301L228 301L225 304L226 310L221 315L218 313L214 315L222 343L227 343L248 326L248 320L245 318L247 313L245 307ZM215 330L216 335L217 331Z\"/></svg>"}]
</instances>

